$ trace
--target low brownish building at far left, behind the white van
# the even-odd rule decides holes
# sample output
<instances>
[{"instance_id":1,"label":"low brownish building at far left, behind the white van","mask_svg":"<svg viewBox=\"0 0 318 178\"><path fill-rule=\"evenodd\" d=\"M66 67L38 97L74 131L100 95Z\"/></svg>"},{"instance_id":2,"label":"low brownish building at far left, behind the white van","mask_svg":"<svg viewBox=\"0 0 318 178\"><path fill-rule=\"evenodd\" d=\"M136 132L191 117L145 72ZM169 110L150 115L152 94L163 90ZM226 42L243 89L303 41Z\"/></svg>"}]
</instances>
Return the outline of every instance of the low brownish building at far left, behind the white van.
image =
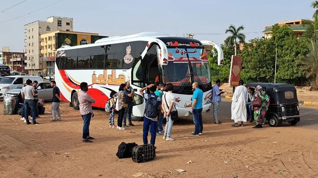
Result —
<instances>
[{"instance_id":1,"label":"low brownish building at far left, behind the white van","mask_svg":"<svg viewBox=\"0 0 318 178\"><path fill-rule=\"evenodd\" d=\"M0 64L9 66L11 71L27 73L28 71L24 70L25 60L24 53L21 52L0 52Z\"/></svg>"}]
</instances>

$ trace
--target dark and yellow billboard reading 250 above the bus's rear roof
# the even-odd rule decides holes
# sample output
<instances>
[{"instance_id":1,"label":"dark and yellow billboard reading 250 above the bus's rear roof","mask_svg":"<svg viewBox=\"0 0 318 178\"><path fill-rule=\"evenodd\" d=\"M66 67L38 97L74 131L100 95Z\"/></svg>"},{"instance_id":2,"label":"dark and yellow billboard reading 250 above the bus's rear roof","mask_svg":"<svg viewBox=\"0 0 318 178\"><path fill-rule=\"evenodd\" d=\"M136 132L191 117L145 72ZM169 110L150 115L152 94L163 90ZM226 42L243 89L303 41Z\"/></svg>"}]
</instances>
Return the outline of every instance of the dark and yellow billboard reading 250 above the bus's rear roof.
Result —
<instances>
[{"instance_id":1,"label":"dark and yellow billboard reading 250 above the bus's rear roof","mask_svg":"<svg viewBox=\"0 0 318 178\"><path fill-rule=\"evenodd\" d=\"M62 46L77 46L91 44L95 41L106 38L108 36L99 35L87 35L87 34L72 34L72 33L56 33L55 34L55 49L61 48Z\"/></svg>"}]
</instances>

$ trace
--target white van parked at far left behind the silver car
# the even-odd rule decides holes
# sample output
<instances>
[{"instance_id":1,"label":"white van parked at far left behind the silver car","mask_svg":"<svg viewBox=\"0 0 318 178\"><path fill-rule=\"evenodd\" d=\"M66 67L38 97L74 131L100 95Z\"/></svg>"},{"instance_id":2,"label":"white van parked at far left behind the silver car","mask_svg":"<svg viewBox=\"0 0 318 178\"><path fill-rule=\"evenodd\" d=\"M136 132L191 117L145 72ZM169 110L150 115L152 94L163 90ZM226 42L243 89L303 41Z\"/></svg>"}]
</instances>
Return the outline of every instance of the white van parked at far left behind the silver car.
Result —
<instances>
[{"instance_id":1,"label":"white van parked at far left behind the silver car","mask_svg":"<svg viewBox=\"0 0 318 178\"><path fill-rule=\"evenodd\" d=\"M23 75L16 75L16 76L6 76L0 80L0 98L3 98L6 92L10 89L13 89L27 80L37 80L38 82L43 82L43 79L38 76L23 76Z\"/></svg>"}]
</instances>

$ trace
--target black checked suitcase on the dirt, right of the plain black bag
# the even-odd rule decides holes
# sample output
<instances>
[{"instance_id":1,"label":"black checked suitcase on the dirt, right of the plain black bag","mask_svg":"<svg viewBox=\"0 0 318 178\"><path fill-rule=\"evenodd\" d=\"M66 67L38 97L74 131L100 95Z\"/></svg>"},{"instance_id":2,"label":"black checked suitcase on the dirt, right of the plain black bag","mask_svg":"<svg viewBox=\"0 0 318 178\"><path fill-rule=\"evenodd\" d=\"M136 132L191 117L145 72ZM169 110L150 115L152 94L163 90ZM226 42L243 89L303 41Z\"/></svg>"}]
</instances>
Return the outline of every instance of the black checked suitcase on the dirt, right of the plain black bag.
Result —
<instances>
[{"instance_id":1,"label":"black checked suitcase on the dirt, right of the plain black bag","mask_svg":"<svg viewBox=\"0 0 318 178\"><path fill-rule=\"evenodd\" d=\"M146 144L135 146L133 148L132 159L134 162L152 161L156 157L156 149L154 145Z\"/></svg>"}]
</instances>

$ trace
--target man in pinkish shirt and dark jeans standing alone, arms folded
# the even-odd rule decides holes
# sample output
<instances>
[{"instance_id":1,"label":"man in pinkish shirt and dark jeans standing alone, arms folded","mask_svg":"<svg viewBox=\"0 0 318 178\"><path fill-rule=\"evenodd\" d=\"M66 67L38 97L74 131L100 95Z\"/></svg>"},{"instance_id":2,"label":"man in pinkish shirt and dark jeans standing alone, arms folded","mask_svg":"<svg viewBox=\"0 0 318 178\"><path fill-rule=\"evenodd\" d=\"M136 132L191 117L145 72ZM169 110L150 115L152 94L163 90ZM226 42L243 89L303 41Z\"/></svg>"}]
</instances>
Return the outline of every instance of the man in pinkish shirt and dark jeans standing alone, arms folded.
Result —
<instances>
[{"instance_id":1,"label":"man in pinkish shirt and dark jeans standing alone, arms folded","mask_svg":"<svg viewBox=\"0 0 318 178\"><path fill-rule=\"evenodd\" d=\"M80 91L78 93L79 99L79 112L83 118L83 137L82 142L91 143L93 142L89 135L89 124L91 123L91 118L93 115L92 103L95 103L95 99L87 94L88 86L86 82L80 83ZM93 116L94 117L94 116Z\"/></svg>"}]
</instances>

